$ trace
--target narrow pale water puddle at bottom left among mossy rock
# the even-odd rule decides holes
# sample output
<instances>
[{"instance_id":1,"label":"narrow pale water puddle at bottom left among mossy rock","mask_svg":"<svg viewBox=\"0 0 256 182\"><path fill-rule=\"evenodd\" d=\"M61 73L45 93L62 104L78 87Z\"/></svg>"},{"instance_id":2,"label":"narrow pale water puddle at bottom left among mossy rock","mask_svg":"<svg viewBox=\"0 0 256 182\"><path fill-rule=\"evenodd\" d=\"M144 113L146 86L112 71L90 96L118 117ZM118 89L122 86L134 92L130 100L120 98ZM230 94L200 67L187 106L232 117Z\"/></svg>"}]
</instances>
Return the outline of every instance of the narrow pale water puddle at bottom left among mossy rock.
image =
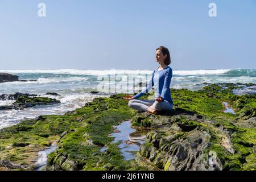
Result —
<instances>
[{"instance_id":1,"label":"narrow pale water puddle at bottom left among mossy rock","mask_svg":"<svg viewBox=\"0 0 256 182\"><path fill-rule=\"evenodd\" d=\"M38 152L38 161L35 166L37 167L36 171L46 171L47 156L56 150L57 146L50 146L46 150Z\"/></svg>"}]
</instances>

